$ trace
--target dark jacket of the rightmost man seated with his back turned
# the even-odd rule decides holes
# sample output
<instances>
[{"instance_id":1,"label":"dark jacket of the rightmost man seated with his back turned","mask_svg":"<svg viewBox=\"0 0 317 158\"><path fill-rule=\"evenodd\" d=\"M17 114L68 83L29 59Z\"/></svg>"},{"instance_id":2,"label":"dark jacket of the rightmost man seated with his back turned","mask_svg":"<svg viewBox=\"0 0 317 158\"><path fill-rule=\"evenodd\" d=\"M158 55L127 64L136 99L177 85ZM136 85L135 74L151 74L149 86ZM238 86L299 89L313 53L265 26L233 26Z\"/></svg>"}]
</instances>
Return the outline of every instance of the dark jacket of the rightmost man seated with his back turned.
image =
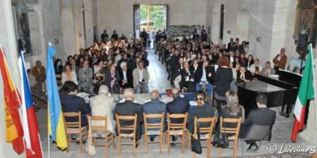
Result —
<instances>
[{"instance_id":1,"label":"dark jacket of the rightmost man seated with his back turned","mask_svg":"<svg viewBox=\"0 0 317 158\"><path fill-rule=\"evenodd\" d=\"M260 126L270 126L271 132L272 127L275 123L276 112L274 110L270 110L268 108L258 108L255 110L251 110L247 119L241 126L241 137L246 137L249 129L252 125L260 125ZM271 139L272 133L269 134L269 139Z\"/></svg>"}]
</instances>

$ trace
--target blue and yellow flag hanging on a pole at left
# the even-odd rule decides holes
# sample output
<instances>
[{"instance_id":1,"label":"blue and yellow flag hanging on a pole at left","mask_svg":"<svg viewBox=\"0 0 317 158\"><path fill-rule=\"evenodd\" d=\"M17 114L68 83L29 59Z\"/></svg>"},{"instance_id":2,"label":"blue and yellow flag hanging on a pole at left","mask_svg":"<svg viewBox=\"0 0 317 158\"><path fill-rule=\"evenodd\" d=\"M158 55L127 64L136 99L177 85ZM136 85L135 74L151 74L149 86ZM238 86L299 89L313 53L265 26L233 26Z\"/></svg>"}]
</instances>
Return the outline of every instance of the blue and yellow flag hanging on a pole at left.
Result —
<instances>
[{"instance_id":1,"label":"blue and yellow flag hanging on a pole at left","mask_svg":"<svg viewBox=\"0 0 317 158\"><path fill-rule=\"evenodd\" d=\"M48 46L46 88L48 91L48 135L52 141L56 141L57 147L64 150L68 148L64 127L63 112L61 110L61 100L59 99L59 88L55 77L53 57L55 48Z\"/></svg>"}]
</instances>

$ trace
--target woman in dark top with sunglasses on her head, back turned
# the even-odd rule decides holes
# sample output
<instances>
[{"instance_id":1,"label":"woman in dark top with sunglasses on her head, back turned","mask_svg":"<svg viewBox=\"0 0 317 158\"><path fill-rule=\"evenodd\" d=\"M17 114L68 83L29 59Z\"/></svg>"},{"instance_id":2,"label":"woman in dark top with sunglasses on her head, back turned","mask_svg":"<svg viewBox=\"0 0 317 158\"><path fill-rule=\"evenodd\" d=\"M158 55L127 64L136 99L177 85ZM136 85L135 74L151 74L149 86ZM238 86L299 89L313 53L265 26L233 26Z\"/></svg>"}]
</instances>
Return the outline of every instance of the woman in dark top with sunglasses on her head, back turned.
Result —
<instances>
[{"instance_id":1,"label":"woman in dark top with sunglasses on her head, back turned","mask_svg":"<svg viewBox=\"0 0 317 158\"><path fill-rule=\"evenodd\" d=\"M187 119L187 129L190 130L190 133L194 132L194 118L203 118L203 117L214 117L215 110L213 106L210 106L207 102L207 95L203 91L196 92L195 101L197 106L191 108L188 112ZM201 124L201 127L207 127L208 124Z\"/></svg>"}]
</instances>

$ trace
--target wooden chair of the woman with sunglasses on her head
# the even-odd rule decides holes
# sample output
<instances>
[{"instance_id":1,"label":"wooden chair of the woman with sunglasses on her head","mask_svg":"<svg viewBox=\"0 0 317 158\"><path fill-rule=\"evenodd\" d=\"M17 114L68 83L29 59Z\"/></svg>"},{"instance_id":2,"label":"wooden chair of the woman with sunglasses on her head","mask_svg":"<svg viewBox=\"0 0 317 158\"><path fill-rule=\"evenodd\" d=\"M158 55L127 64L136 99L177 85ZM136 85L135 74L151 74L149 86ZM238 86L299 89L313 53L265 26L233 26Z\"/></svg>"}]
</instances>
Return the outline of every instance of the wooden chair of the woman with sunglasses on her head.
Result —
<instances>
[{"instance_id":1,"label":"wooden chair of the woman with sunglasses on her head","mask_svg":"<svg viewBox=\"0 0 317 158\"><path fill-rule=\"evenodd\" d=\"M197 117L194 118L194 134L193 137L195 139L198 138L197 136L197 124L210 124L210 126L208 127L199 127L199 133L203 133L203 135L201 135L201 141L206 141L206 146L201 146L202 148L207 148L207 158L210 157L210 144L212 141L212 131L214 130L214 124L216 122L216 117L205 117L205 118L199 118L197 119ZM193 157L196 156L196 153L193 152Z\"/></svg>"}]
</instances>

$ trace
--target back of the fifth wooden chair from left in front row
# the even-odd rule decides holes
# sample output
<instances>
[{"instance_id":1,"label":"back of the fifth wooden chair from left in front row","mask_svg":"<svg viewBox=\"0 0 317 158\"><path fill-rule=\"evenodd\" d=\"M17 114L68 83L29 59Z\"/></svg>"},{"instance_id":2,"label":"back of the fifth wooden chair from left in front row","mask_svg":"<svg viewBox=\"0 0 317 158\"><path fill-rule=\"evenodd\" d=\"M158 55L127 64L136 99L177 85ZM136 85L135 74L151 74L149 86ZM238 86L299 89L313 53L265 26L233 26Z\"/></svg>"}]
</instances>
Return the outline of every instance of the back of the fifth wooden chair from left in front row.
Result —
<instances>
[{"instance_id":1,"label":"back of the fifth wooden chair from left in front row","mask_svg":"<svg viewBox=\"0 0 317 158\"><path fill-rule=\"evenodd\" d=\"M181 123L172 123L171 119L183 119ZM168 130L185 130L187 123L187 112L185 114L170 114L167 113L167 128Z\"/></svg>"}]
</instances>

